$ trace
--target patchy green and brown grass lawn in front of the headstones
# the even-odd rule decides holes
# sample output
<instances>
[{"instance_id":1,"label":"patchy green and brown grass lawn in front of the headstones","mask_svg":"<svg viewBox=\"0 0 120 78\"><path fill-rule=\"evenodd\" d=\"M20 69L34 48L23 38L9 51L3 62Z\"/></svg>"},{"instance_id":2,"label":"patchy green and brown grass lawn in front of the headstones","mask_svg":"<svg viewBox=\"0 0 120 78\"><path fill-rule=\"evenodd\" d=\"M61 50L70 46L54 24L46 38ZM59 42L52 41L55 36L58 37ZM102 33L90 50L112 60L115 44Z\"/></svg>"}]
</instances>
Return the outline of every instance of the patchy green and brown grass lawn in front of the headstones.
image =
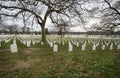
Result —
<instances>
[{"instance_id":1,"label":"patchy green and brown grass lawn in front of the headstones","mask_svg":"<svg viewBox=\"0 0 120 78\"><path fill-rule=\"evenodd\" d=\"M48 44L26 48L19 41L18 53L10 53L10 44L0 48L0 78L120 78L120 50L68 52L68 44L59 44L54 53Z\"/></svg>"}]
</instances>

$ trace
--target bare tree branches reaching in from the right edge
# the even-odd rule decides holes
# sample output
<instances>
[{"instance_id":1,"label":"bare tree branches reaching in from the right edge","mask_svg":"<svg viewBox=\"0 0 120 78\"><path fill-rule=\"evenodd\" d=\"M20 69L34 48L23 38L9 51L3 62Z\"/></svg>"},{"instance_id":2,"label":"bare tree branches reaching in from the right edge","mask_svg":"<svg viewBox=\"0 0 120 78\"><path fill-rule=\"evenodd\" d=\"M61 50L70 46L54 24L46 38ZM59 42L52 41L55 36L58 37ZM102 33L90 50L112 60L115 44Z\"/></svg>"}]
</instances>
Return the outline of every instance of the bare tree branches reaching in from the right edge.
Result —
<instances>
[{"instance_id":1,"label":"bare tree branches reaching in from the right edge","mask_svg":"<svg viewBox=\"0 0 120 78\"><path fill-rule=\"evenodd\" d=\"M88 10L90 15L101 19L100 26L94 28L97 30L114 32L114 30L120 26L120 1L103 0L98 4L101 4L101 6Z\"/></svg>"}]
</instances>

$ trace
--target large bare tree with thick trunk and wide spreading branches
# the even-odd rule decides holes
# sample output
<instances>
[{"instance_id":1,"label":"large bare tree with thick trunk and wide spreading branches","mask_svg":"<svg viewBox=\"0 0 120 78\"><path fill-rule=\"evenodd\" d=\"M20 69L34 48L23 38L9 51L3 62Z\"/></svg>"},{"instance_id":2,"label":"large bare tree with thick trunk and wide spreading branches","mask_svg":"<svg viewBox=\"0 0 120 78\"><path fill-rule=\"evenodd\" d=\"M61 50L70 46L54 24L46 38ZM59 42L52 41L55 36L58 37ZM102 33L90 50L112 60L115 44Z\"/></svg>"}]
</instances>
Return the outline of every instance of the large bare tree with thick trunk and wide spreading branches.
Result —
<instances>
[{"instance_id":1,"label":"large bare tree with thick trunk and wide spreading branches","mask_svg":"<svg viewBox=\"0 0 120 78\"><path fill-rule=\"evenodd\" d=\"M68 18L81 17L81 5L85 0L5 0L0 1L0 15L18 17L25 12L27 20L37 22L42 30L42 41L46 42L45 24L47 18L52 22L59 16Z\"/></svg>"}]
</instances>

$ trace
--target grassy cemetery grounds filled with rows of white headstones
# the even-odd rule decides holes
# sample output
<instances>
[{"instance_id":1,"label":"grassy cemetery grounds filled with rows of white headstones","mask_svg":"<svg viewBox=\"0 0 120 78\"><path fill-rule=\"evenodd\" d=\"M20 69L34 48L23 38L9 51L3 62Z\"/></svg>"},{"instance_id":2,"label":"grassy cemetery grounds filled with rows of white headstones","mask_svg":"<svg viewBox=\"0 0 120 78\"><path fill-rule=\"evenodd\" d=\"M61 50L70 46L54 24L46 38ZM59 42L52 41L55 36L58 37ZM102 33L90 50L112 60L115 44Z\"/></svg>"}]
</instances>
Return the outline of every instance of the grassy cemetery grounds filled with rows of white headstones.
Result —
<instances>
[{"instance_id":1,"label":"grassy cemetery grounds filled with rows of white headstones","mask_svg":"<svg viewBox=\"0 0 120 78\"><path fill-rule=\"evenodd\" d=\"M120 78L120 37L0 35L0 78Z\"/></svg>"}]
</instances>

